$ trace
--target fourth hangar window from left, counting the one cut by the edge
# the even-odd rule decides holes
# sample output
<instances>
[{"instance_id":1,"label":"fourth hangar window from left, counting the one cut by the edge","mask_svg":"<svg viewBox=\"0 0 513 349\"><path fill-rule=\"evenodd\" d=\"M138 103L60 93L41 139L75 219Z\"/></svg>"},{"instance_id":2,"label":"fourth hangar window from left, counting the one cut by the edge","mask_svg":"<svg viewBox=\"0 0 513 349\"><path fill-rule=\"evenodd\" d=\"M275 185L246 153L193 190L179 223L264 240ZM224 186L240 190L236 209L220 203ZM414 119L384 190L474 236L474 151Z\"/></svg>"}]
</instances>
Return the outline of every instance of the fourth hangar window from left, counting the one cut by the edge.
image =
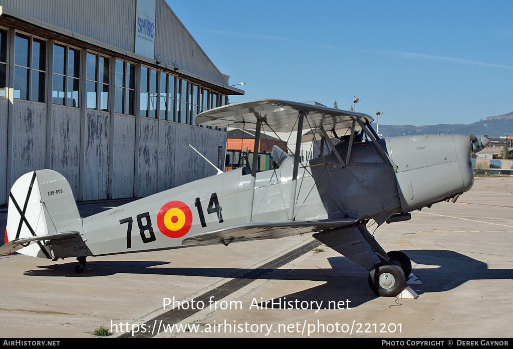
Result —
<instances>
[{"instance_id":1,"label":"fourth hangar window from left, counting the one cut by the edge","mask_svg":"<svg viewBox=\"0 0 513 349\"><path fill-rule=\"evenodd\" d=\"M86 108L109 110L109 59L87 53Z\"/></svg>"}]
</instances>

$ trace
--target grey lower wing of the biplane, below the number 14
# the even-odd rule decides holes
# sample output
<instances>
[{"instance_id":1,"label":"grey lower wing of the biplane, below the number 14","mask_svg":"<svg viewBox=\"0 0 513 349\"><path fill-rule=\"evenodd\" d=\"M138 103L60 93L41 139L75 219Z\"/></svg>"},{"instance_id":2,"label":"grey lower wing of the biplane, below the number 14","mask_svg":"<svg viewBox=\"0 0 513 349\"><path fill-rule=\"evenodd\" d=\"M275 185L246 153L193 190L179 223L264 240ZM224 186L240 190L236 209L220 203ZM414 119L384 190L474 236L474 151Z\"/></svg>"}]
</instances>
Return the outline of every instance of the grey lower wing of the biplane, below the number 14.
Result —
<instances>
[{"instance_id":1,"label":"grey lower wing of the biplane, below the number 14","mask_svg":"<svg viewBox=\"0 0 513 349\"><path fill-rule=\"evenodd\" d=\"M229 244L231 242L278 239L307 232L340 228L357 222L355 218L321 221L258 222L234 225L229 228L207 231L184 239L183 245Z\"/></svg>"}]
</instances>

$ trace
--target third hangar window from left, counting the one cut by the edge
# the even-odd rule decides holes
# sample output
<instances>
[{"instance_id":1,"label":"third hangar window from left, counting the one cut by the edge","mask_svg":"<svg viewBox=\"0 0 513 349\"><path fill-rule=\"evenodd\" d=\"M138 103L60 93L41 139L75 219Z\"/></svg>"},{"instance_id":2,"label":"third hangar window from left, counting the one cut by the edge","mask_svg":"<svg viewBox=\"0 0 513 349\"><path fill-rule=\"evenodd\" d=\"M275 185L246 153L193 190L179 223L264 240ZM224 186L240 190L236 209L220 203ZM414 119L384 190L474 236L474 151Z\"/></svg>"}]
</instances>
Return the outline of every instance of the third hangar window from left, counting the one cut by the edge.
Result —
<instances>
[{"instance_id":1,"label":"third hangar window from left, counting the one cut by the edge","mask_svg":"<svg viewBox=\"0 0 513 349\"><path fill-rule=\"evenodd\" d=\"M79 107L80 50L53 45L52 103Z\"/></svg>"}]
</instances>

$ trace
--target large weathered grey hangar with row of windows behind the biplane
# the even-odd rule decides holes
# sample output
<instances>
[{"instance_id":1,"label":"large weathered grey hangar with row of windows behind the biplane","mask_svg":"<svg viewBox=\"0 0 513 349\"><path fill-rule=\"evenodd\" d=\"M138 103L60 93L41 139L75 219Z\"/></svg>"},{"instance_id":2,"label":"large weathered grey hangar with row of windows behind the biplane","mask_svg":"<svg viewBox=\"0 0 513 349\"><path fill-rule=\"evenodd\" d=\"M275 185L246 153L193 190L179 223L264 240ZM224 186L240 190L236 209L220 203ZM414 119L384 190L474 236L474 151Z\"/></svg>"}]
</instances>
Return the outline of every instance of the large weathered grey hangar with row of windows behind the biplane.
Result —
<instances>
[{"instance_id":1,"label":"large weathered grey hangar with row of windows behind the biplane","mask_svg":"<svg viewBox=\"0 0 513 349\"><path fill-rule=\"evenodd\" d=\"M0 205L50 168L77 200L144 197L213 175L224 129L194 116L244 94L163 0L3 0ZM221 164L223 166L223 164Z\"/></svg>"}]
</instances>

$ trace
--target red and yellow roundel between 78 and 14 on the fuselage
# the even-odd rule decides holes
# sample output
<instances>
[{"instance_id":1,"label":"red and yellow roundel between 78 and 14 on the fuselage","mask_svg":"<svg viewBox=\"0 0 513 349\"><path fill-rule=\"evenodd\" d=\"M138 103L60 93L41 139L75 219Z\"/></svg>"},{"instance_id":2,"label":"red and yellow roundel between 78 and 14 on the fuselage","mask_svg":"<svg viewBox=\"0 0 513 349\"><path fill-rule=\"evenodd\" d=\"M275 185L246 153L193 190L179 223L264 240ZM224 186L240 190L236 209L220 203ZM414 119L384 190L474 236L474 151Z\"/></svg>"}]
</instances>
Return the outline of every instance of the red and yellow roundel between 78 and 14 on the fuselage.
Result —
<instances>
[{"instance_id":1,"label":"red and yellow roundel between 78 and 14 on the fuselage","mask_svg":"<svg viewBox=\"0 0 513 349\"><path fill-rule=\"evenodd\" d=\"M170 201L157 215L159 230L169 238L181 238L187 234L192 225L192 212L182 201Z\"/></svg>"}]
</instances>

